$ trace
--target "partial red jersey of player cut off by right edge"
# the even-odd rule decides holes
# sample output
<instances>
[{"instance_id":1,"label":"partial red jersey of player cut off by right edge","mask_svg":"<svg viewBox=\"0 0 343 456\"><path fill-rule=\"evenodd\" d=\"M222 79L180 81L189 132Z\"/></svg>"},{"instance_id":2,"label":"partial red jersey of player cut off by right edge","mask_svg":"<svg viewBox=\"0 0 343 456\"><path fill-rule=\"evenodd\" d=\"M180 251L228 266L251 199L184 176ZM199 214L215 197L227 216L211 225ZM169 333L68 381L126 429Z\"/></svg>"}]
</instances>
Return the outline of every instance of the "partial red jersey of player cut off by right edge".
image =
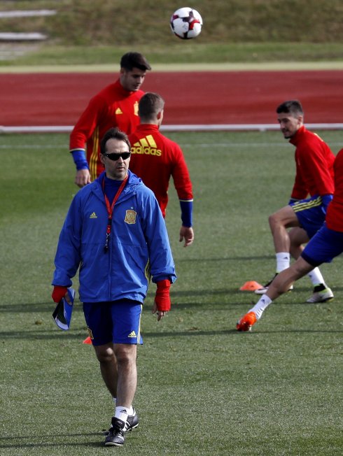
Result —
<instances>
[{"instance_id":1,"label":"partial red jersey of player cut off by right edge","mask_svg":"<svg viewBox=\"0 0 343 456\"><path fill-rule=\"evenodd\" d=\"M343 149L339 150L335 163L335 194L326 211L326 226L343 232Z\"/></svg>"}]
</instances>

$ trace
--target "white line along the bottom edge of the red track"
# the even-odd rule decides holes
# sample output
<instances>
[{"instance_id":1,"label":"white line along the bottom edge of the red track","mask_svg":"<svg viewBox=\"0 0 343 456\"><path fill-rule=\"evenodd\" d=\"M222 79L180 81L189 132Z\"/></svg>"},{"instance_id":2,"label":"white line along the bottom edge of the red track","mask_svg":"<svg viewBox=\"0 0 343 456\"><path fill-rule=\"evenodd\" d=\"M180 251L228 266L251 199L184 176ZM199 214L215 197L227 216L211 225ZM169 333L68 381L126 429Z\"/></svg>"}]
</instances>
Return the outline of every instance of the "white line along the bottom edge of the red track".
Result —
<instances>
[{"instance_id":1,"label":"white line along the bottom edge of the red track","mask_svg":"<svg viewBox=\"0 0 343 456\"><path fill-rule=\"evenodd\" d=\"M306 124L308 129L339 130L343 124ZM162 125L161 131L269 131L279 130L279 124L199 124L199 125ZM70 125L5 127L0 125L1 133L70 133Z\"/></svg>"}]
</instances>

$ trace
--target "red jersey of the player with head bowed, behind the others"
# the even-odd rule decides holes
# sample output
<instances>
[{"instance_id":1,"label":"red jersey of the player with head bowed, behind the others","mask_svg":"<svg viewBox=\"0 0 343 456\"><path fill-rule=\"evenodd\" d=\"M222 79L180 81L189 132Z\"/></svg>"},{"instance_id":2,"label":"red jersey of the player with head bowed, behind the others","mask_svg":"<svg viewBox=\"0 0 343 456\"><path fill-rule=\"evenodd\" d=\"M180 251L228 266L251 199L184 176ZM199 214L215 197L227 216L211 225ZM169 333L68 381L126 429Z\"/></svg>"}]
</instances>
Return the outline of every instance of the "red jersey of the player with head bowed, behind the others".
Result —
<instances>
[{"instance_id":1,"label":"red jersey of the player with head bowed, behind the others","mask_svg":"<svg viewBox=\"0 0 343 456\"><path fill-rule=\"evenodd\" d=\"M87 145L87 162L92 180L104 171L99 159L102 136L111 127L118 127L126 134L134 131L139 124L138 102L143 95L142 90L127 92L118 79L116 83L108 85L90 99L87 108L73 127L69 143L70 152L85 150Z\"/></svg>"}]
</instances>

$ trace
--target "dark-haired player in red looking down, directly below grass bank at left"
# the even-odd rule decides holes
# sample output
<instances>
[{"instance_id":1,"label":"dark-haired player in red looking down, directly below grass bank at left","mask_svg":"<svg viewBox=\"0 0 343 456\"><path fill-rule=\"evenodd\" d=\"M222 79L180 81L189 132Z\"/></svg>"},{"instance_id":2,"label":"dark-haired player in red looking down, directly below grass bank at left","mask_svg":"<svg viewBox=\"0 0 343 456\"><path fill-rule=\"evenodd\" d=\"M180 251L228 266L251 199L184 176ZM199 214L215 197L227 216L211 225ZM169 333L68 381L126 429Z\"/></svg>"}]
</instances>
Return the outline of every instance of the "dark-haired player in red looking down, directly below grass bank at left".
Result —
<instances>
[{"instance_id":1,"label":"dark-haired player in red looking down, directly below grass bank at left","mask_svg":"<svg viewBox=\"0 0 343 456\"><path fill-rule=\"evenodd\" d=\"M118 127L130 134L139 124L138 102L144 94L140 87L147 70L151 70L151 66L139 52L123 55L118 80L90 99L73 127L69 145L76 164L75 183L78 187L89 184L104 171L100 161L100 141L106 131Z\"/></svg>"}]
</instances>

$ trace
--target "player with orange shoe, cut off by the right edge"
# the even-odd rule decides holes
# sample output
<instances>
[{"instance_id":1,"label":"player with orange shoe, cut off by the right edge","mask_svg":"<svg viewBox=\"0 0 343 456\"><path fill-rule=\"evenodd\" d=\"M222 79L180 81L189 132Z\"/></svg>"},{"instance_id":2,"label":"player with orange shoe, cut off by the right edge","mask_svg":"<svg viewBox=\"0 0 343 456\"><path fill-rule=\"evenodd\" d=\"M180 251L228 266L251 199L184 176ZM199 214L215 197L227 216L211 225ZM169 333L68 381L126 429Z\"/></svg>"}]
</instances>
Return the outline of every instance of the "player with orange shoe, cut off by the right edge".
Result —
<instances>
[{"instance_id":1,"label":"player with orange shoe, cut off by the right edge","mask_svg":"<svg viewBox=\"0 0 343 456\"><path fill-rule=\"evenodd\" d=\"M239 320L238 331L249 331L260 320L267 306L287 292L295 280L319 264L330 263L343 252L343 149L337 154L334 171L335 194L328 206L323 227L311 238L297 261L272 280L265 295Z\"/></svg>"}]
</instances>

